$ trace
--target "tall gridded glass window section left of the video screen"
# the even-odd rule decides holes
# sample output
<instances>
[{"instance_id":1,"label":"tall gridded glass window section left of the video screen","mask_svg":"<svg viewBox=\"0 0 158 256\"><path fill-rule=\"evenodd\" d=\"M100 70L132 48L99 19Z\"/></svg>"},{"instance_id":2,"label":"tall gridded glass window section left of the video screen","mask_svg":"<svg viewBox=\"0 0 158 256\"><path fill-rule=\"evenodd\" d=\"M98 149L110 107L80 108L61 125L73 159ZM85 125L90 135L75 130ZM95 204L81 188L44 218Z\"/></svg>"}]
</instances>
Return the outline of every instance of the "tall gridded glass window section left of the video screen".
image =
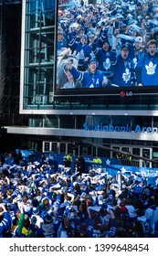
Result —
<instances>
[{"instance_id":1,"label":"tall gridded glass window section left of the video screen","mask_svg":"<svg viewBox=\"0 0 158 256\"><path fill-rule=\"evenodd\" d=\"M26 1L24 108L52 104L56 1ZM31 107L32 105L32 107Z\"/></svg>"}]
</instances>

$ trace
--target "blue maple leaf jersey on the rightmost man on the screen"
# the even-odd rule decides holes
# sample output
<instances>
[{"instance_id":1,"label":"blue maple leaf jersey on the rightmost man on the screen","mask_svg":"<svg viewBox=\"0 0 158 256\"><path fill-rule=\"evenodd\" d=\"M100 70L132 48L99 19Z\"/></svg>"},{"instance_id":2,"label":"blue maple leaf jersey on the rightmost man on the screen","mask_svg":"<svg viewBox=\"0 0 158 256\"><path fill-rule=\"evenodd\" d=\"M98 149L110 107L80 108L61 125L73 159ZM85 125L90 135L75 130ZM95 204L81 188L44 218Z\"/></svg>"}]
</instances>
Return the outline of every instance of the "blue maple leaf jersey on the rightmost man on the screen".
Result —
<instances>
[{"instance_id":1,"label":"blue maple leaf jersey on the rightmost man on the screen","mask_svg":"<svg viewBox=\"0 0 158 256\"><path fill-rule=\"evenodd\" d=\"M136 78L143 86L158 86L158 53L142 55L136 67Z\"/></svg>"}]
</instances>

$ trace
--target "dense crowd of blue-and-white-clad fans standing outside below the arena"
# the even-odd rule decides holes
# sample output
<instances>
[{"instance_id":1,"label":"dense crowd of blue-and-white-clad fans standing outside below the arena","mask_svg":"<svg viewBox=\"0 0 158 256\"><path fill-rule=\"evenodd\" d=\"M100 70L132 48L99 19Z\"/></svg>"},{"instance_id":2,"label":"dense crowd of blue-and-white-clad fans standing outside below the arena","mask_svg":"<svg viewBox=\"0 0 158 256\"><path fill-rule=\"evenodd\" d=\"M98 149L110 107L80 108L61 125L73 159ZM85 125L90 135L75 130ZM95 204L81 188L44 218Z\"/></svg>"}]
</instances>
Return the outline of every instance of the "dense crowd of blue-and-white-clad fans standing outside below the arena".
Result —
<instances>
[{"instance_id":1,"label":"dense crowd of blue-and-white-clad fans standing outside below the arena","mask_svg":"<svg viewBox=\"0 0 158 256\"><path fill-rule=\"evenodd\" d=\"M83 155L81 171L76 162L55 169L44 154L22 160L6 154L0 168L0 237L158 237L158 187L145 176L86 172Z\"/></svg>"}]
</instances>

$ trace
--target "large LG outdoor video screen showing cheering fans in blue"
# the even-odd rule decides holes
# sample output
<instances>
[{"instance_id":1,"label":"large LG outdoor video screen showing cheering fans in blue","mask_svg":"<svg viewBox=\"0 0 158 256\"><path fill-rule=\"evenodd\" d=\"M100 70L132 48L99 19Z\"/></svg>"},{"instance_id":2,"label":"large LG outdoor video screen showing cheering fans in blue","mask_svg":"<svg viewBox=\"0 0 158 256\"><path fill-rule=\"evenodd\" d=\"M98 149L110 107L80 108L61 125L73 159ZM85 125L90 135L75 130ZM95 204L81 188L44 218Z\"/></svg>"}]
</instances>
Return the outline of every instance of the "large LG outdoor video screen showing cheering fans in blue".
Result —
<instances>
[{"instance_id":1,"label":"large LG outdoor video screen showing cheering fans in blue","mask_svg":"<svg viewBox=\"0 0 158 256\"><path fill-rule=\"evenodd\" d=\"M55 92L154 92L157 41L158 1L59 0Z\"/></svg>"}]
</instances>

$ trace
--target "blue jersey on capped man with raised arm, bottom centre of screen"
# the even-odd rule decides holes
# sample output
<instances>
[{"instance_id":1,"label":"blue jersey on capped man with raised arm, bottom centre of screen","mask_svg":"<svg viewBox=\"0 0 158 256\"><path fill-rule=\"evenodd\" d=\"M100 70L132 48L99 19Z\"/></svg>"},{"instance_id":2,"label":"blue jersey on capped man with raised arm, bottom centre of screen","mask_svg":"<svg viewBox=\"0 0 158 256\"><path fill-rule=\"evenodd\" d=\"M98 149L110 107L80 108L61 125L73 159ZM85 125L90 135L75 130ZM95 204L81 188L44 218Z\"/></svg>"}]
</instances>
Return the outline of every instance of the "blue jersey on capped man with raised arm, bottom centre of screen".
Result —
<instances>
[{"instance_id":1,"label":"blue jersey on capped man with raised arm, bottom centre of screen","mask_svg":"<svg viewBox=\"0 0 158 256\"><path fill-rule=\"evenodd\" d=\"M70 70L75 80L79 80L82 88L100 88L103 86L103 80L106 79L105 75L97 70L94 74L90 71L81 72L72 67Z\"/></svg>"}]
</instances>

